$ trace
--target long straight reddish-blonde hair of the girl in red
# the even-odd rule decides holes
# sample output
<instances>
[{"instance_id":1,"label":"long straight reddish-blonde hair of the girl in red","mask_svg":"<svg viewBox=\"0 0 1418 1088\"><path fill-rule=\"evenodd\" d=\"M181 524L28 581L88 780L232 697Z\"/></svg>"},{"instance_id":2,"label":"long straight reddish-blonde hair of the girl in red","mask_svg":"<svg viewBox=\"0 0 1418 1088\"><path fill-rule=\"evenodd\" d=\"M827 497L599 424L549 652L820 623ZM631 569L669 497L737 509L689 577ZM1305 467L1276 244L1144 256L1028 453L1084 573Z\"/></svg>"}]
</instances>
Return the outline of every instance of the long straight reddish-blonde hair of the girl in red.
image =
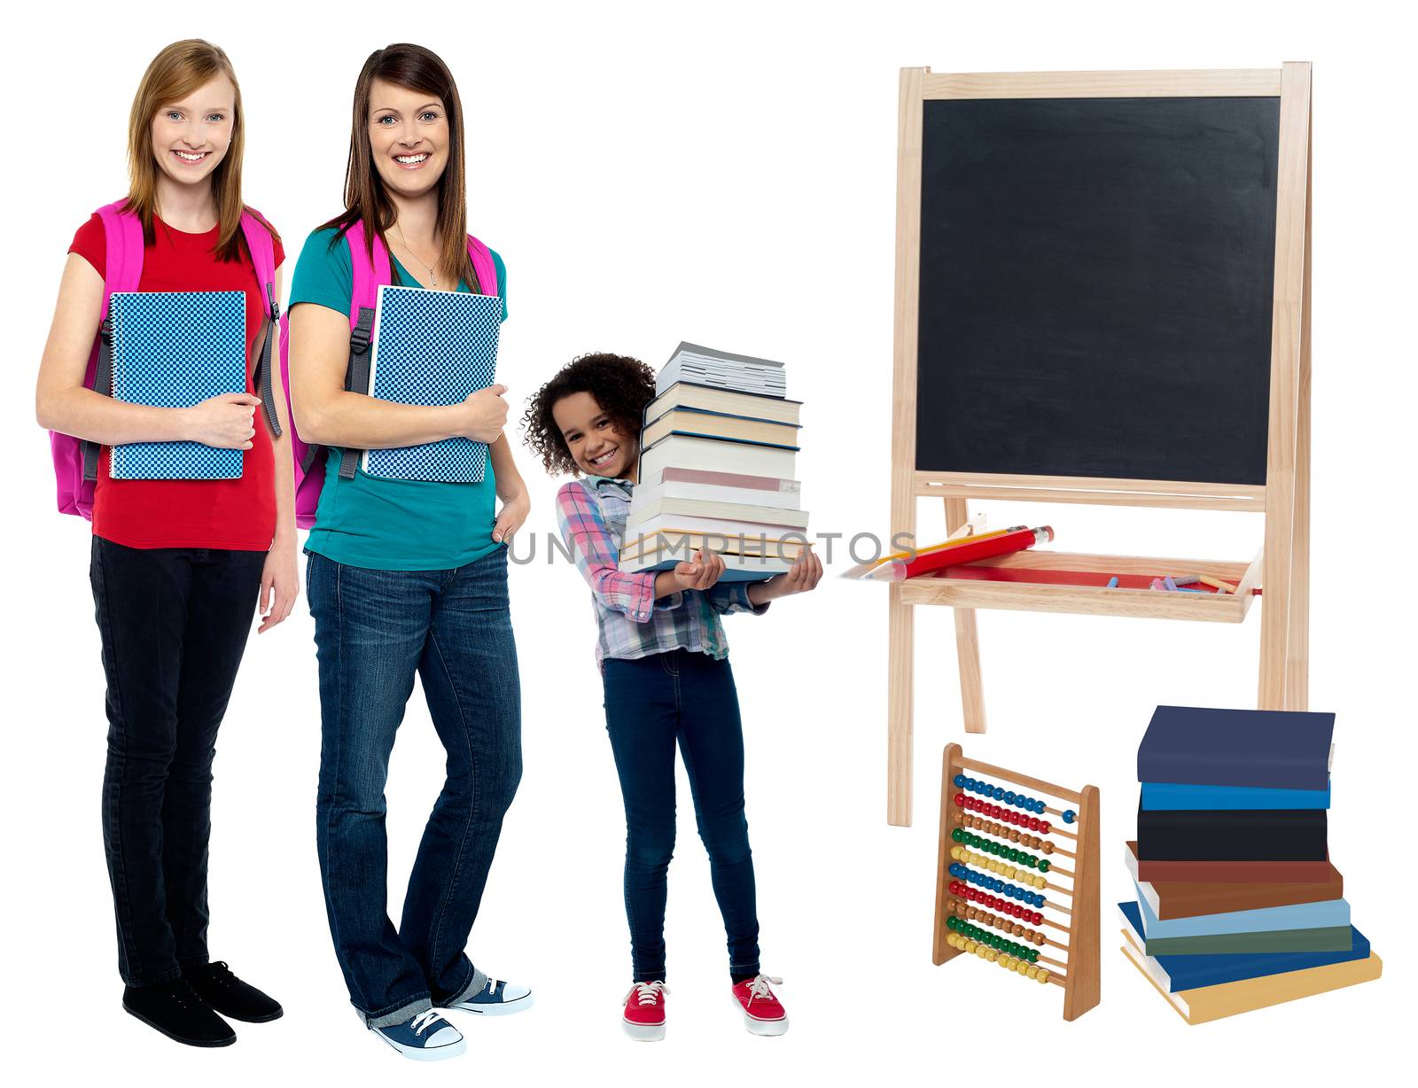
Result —
<instances>
[{"instance_id":1,"label":"long straight reddish-blonde hair of the girl in red","mask_svg":"<svg viewBox=\"0 0 1418 1088\"><path fill-rule=\"evenodd\" d=\"M217 205L217 244L214 252L223 261L241 255L241 153L245 129L241 116L241 86L227 54L210 41L187 38L174 41L153 57L128 115L128 203L125 211L138 215L143 224L143 241L153 242L153 214L157 210L157 163L153 160L152 125L157 110L190 95L218 75L231 81L233 115L231 144L217 169L211 171L211 200ZM259 218L259 217L258 217ZM265 222L262 220L262 222ZM271 225L267 224L267 230ZM275 231L271 231L275 237Z\"/></svg>"}]
</instances>

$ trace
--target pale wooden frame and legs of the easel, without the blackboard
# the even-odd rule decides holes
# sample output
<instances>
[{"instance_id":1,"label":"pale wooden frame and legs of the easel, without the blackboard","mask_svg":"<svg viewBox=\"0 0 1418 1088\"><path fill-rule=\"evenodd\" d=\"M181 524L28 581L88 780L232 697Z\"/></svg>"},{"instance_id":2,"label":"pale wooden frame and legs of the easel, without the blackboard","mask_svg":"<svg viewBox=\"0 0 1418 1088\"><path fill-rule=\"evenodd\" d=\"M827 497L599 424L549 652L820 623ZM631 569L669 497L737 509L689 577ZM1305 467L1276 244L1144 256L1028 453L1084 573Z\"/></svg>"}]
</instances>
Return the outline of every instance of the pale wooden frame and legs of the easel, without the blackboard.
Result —
<instances>
[{"instance_id":1,"label":"pale wooden frame and legs of the easel, without the blackboard","mask_svg":"<svg viewBox=\"0 0 1418 1088\"><path fill-rule=\"evenodd\" d=\"M1200 98L1276 96L1280 139L1275 231L1275 300L1271 333L1271 407L1265 486L1068 476L919 472L916 367L920 303L922 119L927 99L947 98ZM896 309L892 401L891 530L916 534L916 500L943 499L946 528L966 521L976 499L1248 510L1265 514L1265 544L1249 562L1025 551L1001 567L1066 568L1112 574L1185 571L1239 586L1225 596L1146 589L922 578L891 586L888 667L886 819L912 817L912 747L916 605L956 611L956 650L967 732L984 732L977 608L1081 612L1239 623L1252 589L1261 609L1262 710L1305 710L1309 698L1310 552L1310 65L1279 69L1157 72L1027 72L934 75L900 72L896 174Z\"/></svg>"}]
</instances>

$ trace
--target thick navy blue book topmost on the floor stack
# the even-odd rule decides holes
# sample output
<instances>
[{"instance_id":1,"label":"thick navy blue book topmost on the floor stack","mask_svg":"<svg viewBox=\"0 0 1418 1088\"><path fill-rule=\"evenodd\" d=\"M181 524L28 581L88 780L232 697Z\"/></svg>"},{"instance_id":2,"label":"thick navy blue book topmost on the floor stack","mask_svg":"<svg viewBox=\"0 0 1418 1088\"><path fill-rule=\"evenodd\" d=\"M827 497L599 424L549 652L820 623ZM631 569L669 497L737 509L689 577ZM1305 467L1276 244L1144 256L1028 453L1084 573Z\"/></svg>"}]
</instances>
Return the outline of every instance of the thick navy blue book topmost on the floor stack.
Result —
<instances>
[{"instance_id":1,"label":"thick navy blue book topmost on the floor stack","mask_svg":"<svg viewBox=\"0 0 1418 1088\"><path fill-rule=\"evenodd\" d=\"M1157 707L1137 747L1137 781L1324 789L1333 737L1333 714Z\"/></svg>"}]
</instances>

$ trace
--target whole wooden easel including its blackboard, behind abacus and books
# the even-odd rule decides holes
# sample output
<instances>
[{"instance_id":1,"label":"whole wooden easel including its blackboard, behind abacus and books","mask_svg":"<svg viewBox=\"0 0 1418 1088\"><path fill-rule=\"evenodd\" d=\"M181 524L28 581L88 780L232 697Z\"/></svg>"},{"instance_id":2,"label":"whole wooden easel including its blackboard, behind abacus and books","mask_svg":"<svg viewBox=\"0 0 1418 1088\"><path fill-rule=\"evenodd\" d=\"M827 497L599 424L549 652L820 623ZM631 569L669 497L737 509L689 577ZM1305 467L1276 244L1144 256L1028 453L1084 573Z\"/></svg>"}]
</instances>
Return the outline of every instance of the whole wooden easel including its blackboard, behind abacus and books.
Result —
<instances>
[{"instance_id":1,"label":"whole wooden easel including its blackboard, behind abacus and books","mask_svg":"<svg viewBox=\"0 0 1418 1088\"><path fill-rule=\"evenodd\" d=\"M1239 623L1263 585L1258 704L1305 710L1310 65L906 68L899 125L893 538L915 537L929 497L951 533L968 502L1012 499L1254 511L1265 543L1249 562L1031 550L991 561L1011 581L892 585L888 820L912 816L917 605L954 608L964 725L983 732L974 609ZM1120 408L1129 395L1143 408ZM1236 592L1025 571L1190 572Z\"/></svg>"}]
</instances>

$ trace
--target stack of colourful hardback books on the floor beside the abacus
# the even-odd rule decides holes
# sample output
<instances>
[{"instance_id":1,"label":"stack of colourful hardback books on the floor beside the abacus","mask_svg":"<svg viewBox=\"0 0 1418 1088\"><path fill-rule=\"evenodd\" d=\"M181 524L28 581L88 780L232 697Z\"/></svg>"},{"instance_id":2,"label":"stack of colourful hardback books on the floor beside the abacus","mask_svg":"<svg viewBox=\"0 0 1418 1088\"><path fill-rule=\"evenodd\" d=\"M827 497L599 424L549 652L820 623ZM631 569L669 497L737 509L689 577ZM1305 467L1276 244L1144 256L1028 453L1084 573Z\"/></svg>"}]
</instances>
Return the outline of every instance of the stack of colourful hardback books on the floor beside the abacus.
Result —
<instances>
[{"instance_id":1,"label":"stack of colourful hardback books on the floor beside the abacus","mask_svg":"<svg viewBox=\"0 0 1418 1088\"><path fill-rule=\"evenodd\" d=\"M1123 952L1187 1023L1377 979L1330 864L1333 714L1157 707Z\"/></svg>"}]
</instances>

